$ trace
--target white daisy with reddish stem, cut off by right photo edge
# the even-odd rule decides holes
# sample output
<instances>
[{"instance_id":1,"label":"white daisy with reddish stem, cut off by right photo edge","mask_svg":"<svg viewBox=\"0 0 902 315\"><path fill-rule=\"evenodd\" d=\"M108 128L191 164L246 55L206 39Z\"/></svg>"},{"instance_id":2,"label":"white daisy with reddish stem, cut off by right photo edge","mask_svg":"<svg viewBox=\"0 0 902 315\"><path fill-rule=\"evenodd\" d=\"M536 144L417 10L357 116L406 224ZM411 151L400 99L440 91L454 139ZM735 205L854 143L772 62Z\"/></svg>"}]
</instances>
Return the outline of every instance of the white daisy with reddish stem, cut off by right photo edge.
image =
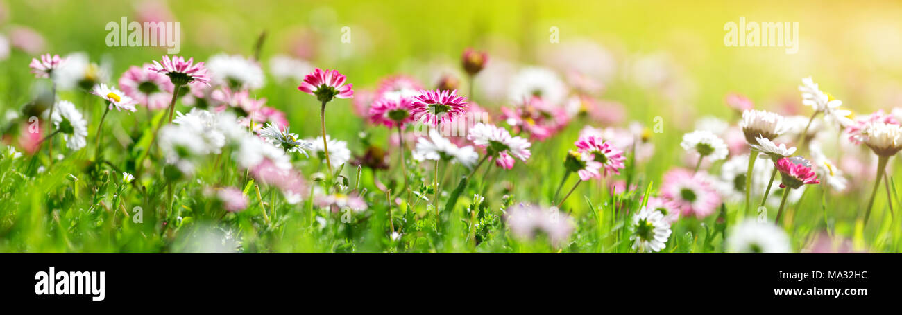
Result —
<instances>
[{"instance_id":1,"label":"white daisy with reddish stem, cut off by right photo edge","mask_svg":"<svg viewBox=\"0 0 902 315\"><path fill-rule=\"evenodd\" d=\"M874 206L874 197L877 196L880 179L886 174L889 157L895 156L902 149L902 126L885 122L869 122L865 125L859 139L878 157L874 190L870 193L868 211L864 215L864 221L867 222L870 218L870 209Z\"/></svg>"}]
</instances>

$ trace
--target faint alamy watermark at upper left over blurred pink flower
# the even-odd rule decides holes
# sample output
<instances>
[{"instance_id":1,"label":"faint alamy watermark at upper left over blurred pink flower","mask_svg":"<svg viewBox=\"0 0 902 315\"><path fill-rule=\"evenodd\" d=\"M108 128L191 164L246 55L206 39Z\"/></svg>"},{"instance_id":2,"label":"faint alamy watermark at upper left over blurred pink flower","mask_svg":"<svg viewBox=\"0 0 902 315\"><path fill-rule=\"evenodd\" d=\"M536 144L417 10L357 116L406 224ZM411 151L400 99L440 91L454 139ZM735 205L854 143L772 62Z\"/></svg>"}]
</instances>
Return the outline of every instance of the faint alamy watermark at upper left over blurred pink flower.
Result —
<instances>
[{"instance_id":1,"label":"faint alamy watermark at upper left over blurred pink flower","mask_svg":"<svg viewBox=\"0 0 902 315\"><path fill-rule=\"evenodd\" d=\"M106 23L106 47L165 47L169 54L181 50L180 22Z\"/></svg>"}]
</instances>

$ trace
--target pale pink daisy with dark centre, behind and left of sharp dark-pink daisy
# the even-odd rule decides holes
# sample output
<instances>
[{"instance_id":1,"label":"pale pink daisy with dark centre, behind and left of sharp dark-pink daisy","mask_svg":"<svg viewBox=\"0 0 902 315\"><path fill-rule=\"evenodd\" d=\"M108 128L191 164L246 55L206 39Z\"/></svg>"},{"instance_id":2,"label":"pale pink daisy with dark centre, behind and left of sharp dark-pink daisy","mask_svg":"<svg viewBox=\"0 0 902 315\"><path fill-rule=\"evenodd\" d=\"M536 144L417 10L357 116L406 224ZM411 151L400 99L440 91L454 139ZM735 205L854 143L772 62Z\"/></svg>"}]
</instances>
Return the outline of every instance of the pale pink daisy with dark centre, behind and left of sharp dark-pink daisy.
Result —
<instances>
[{"instance_id":1,"label":"pale pink daisy with dark centre, behind and left of sharp dark-pink daisy","mask_svg":"<svg viewBox=\"0 0 902 315\"><path fill-rule=\"evenodd\" d=\"M150 64L129 67L119 77L119 88L126 96L147 108L160 110L169 106L175 85L159 72L148 71L149 67Z\"/></svg>"}]
</instances>

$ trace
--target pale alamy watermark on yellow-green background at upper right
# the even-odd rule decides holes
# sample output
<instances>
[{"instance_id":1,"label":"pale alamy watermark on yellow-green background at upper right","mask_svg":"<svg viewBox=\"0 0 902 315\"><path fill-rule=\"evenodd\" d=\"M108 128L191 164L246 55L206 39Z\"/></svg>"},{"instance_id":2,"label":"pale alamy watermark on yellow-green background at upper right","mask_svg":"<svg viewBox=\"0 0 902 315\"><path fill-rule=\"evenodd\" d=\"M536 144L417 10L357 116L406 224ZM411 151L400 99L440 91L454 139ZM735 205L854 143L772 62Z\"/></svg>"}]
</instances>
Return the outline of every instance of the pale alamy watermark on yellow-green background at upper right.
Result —
<instances>
[{"instance_id":1,"label":"pale alamy watermark on yellow-green background at upper right","mask_svg":"<svg viewBox=\"0 0 902 315\"><path fill-rule=\"evenodd\" d=\"M798 52L798 22L757 23L745 22L739 17L739 24L723 24L723 45L727 47L786 47L787 55Z\"/></svg>"}]
</instances>

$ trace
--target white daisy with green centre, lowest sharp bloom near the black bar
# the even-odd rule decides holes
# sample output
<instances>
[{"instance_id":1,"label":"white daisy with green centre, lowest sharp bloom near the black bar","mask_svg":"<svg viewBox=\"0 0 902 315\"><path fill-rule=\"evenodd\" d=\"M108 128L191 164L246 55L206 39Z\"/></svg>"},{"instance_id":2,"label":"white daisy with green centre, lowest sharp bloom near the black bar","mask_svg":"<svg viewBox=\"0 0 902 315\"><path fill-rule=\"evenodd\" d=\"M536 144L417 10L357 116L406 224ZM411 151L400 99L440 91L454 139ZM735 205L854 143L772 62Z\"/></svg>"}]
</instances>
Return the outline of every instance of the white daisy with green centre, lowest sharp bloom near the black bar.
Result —
<instances>
[{"instance_id":1,"label":"white daisy with green centre, lowest sharp bloom near the black bar","mask_svg":"<svg viewBox=\"0 0 902 315\"><path fill-rule=\"evenodd\" d=\"M649 207L642 208L632 217L632 249L640 253L659 252L667 246L670 223L664 214Z\"/></svg>"}]
</instances>

